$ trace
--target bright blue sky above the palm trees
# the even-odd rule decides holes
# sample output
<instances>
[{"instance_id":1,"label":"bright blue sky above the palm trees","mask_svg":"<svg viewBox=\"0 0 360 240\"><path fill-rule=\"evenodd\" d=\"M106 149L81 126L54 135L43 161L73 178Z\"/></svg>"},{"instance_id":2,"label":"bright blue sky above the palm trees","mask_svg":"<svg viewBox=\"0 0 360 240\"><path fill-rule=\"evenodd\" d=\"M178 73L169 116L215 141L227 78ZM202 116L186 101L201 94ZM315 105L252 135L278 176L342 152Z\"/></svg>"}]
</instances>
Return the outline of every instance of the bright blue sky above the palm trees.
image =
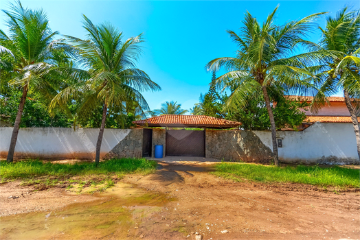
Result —
<instances>
[{"instance_id":1,"label":"bright blue sky above the palm trees","mask_svg":"<svg viewBox=\"0 0 360 240\"><path fill-rule=\"evenodd\" d=\"M0 9L12 1L0 0ZM260 23L280 5L276 24L300 20L316 12L335 16L345 5L360 8L360 1L21 1L25 7L43 8L49 25L60 34L85 38L82 14L95 24L108 21L126 38L144 34L143 53L137 68L161 86L161 91L143 93L151 109L165 101L177 101L189 110L206 93L211 73L205 64L214 58L232 57L236 44L226 30L238 32L244 13L249 11ZM325 17L317 24L325 25ZM5 15L0 14L0 29L5 30ZM308 40L317 42L319 32ZM218 75L221 74L218 73ZM339 95L341 96L341 95Z\"/></svg>"}]
</instances>

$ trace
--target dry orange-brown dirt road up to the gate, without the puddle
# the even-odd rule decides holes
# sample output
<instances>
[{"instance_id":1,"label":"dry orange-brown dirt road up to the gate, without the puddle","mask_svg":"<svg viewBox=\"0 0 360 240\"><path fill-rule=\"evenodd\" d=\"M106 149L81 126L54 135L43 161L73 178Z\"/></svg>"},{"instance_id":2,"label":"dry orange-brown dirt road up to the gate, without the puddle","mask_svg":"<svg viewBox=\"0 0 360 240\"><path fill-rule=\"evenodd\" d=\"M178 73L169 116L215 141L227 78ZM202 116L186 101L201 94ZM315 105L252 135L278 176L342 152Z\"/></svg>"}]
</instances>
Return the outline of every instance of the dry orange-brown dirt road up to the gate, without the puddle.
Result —
<instances>
[{"instance_id":1,"label":"dry orange-brown dirt road up to the gate, without the puddle","mask_svg":"<svg viewBox=\"0 0 360 240\"><path fill-rule=\"evenodd\" d=\"M302 184L232 182L212 176L208 173L211 165L201 163L160 166L155 174L122 179L148 193L172 197L157 211L137 216L139 221L131 228L136 232L127 235L128 239L196 239L196 232L204 240L360 239L359 193L326 193ZM23 191L17 186L1 185L2 213L4 209L13 213L32 211L32 206L38 204L49 211L74 200L99 199L50 189L46 194L33 192L32 197L19 198L13 204L7 195ZM41 195L41 199L36 195ZM106 239L124 237L114 233L106 235Z\"/></svg>"}]
</instances>

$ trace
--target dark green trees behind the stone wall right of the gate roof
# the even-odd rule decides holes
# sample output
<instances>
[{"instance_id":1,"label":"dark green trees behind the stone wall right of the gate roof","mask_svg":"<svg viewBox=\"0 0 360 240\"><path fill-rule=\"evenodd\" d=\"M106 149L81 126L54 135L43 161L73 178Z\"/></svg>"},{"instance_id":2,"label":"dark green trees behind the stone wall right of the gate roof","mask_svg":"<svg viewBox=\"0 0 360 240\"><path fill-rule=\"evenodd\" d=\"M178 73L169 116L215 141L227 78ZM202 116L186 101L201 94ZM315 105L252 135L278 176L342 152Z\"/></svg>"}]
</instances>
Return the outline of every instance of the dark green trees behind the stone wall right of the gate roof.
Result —
<instances>
[{"instance_id":1,"label":"dark green trees behind the stone wall right of the gate roof","mask_svg":"<svg viewBox=\"0 0 360 240\"><path fill-rule=\"evenodd\" d=\"M243 123L241 128L244 130L270 129L269 113L261 93L255 92L249 95L245 108L226 108L226 102L229 97L226 93L221 95L212 86L210 84L209 92L201 95L201 102L194 106L192 112L196 108L196 111L201 112L201 115L238 121ZM298 100L286 99L281 88L270 88L269 90L271 101L276 103L275 107L271 106L276 128L293 128L293 130L297 130L297 126L306 118L305 113L300 109L306 109L309 104Z\"/></svg>"}]
</instances>

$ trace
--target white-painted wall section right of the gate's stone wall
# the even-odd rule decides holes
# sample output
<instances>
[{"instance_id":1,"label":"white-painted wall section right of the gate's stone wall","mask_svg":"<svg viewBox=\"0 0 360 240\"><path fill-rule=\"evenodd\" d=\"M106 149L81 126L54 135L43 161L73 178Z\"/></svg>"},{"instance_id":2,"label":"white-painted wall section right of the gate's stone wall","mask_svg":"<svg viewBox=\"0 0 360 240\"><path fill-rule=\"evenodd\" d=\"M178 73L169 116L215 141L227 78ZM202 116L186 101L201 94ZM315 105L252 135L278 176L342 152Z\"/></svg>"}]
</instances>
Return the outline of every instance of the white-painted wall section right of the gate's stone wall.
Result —
<instances>
[{"instance_id":1,"label":"white-painted wall section right of the gate's stone wall","mask_svg":"<svg viewBox=\"0 0 360 240\"><path fill-rule=\"evenodd\" d=\"M271 132L254 131L262 143L273 149ZM359 163L352 123L314 123L302 132L277 132L282 139L279 158L286 163Z\"/></svg>"}]
</instances>

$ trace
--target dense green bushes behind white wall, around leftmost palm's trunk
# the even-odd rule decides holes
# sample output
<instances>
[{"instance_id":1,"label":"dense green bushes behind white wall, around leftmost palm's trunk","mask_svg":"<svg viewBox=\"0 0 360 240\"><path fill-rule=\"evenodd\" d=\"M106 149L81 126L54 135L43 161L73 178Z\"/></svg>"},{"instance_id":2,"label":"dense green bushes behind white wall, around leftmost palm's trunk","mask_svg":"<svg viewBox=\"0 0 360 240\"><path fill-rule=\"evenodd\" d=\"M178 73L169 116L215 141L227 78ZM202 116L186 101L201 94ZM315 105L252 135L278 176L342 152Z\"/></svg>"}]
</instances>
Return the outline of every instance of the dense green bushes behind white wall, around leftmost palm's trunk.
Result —
<instances>
[{"instance_id":1,"label":"dense green bushes behind white wall, around leftmost palm's trunk","mask_svg":"<svg viewBox=\"0 0 360 240\"><path fill-rule=\"evenodd\" d=\"M21 91L16 88L9 88L8 93L0 98L0 108L3 120L14 125L17 110L19 108L19 99ZM46 104L39 101L36 93L27 94L23 115L21 117L21 128L32 127L61 127L67 128L71 123L67 119L67 115L56 113L50 116Z\"/></svg>"}]
</instances>

